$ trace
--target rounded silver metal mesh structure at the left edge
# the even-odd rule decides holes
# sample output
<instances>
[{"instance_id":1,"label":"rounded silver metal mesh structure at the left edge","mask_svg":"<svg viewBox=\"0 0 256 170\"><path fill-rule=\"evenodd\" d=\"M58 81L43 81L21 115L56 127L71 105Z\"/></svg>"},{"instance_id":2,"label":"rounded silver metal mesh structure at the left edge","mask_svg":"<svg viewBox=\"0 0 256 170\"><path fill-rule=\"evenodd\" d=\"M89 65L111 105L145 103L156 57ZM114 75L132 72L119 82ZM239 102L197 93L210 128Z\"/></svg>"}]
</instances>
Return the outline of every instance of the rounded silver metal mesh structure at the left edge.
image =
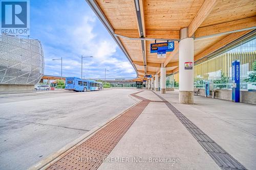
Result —
<instances>
[{"instance_id":1,"label":"rounded silver metal mesh structure at the left edge","mask_svg":"<svg viewBox=\"0 0 256 170\"><path fill-rule=\"evenodd\" d=\"M44 67L39 40L0 35L0 84L35 85Z\"/></svg>"}]
</instances>

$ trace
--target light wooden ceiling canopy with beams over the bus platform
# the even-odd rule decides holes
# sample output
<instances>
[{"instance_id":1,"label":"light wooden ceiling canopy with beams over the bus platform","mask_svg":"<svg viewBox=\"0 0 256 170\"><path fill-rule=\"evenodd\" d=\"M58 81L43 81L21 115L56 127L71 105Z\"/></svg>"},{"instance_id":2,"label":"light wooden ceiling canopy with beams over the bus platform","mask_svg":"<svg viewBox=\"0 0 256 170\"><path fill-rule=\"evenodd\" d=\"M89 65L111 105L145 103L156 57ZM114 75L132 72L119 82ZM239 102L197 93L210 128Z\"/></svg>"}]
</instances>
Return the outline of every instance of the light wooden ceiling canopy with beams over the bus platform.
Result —
<instances>
[{"instance_id":1,"label":"light wooden ceiling canopy with beams over the bus platform","mask_svg":"<svg viewBox=\"0 0 256 170\"><path fill-rule=\"evenodd\" d=\"M87 0L98 8L112 27L133 63L139 79L178 71L180 29L188 28L195 38L194 59L199 60L256 28L255 0ZM94 7L96 6L96 7ZM97 13L97 10L94 10ZM101 15L98 15L101 17ZM102 19L101 19L102 21ZM104 22L104 21L102 21ZM150 44L175 41L175 50L166 58L150 53Z\"/></svg>"}]
</instances>

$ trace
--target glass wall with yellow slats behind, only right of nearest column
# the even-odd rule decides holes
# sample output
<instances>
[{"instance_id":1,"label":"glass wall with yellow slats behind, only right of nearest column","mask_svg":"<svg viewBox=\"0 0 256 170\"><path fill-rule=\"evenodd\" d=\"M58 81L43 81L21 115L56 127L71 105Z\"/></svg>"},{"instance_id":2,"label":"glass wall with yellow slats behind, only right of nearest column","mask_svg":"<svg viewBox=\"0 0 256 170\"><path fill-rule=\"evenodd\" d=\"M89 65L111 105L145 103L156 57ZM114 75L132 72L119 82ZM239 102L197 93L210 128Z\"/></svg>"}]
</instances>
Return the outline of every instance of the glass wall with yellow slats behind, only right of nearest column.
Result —
<instances>
[{"instance_id":1,"label":"glass wall with yellow slats behind, only right of nearest column","mask_svg":"<svg viewBox=\"0 0 256 170\"><path fill-rule=\"evenodd\" d=\"M203 88L205 82L214 83L214 88L230 89L232 86L233 60L240 60L241 89L247 89L248 77L251 74L252 65L256 62L256 36L253 35L238 43L225 48L221 52L208 57L206 61L195 63L194 85ZM248 83L247 83L248 82Z\"/></svg>"}]
</instances>

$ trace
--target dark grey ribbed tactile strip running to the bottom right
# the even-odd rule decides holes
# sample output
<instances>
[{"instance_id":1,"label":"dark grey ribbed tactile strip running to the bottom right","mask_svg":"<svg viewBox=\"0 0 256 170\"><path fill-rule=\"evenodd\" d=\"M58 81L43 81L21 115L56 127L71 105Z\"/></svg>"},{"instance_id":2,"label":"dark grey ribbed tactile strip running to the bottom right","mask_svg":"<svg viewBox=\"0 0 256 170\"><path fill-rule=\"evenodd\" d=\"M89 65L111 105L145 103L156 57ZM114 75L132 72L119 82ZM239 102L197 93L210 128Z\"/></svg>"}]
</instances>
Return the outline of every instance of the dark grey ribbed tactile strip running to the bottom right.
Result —
<instances>
[{"instance_id":1,"label":"dark grey ribbed tactile strip running to the bottom right","mask_svg":"<svg viewBox=\"0 0 256 170\"><path fill-rule=\"evenodd\" d=\"M153 91L154 92L154 91ZM223 148L220 147L214 140L207 136L201 129L193 124L186 116L184 116L179 110L177 110L172 104L166 101L162 96L154 92L162 101L165 102L167 107L172 110L180 122L186 127L186 129L194 136L203 149L210 155L212 159L225 170L237 169L245 170L246 168L229 155Z\"/></svg>"}]
</instances>

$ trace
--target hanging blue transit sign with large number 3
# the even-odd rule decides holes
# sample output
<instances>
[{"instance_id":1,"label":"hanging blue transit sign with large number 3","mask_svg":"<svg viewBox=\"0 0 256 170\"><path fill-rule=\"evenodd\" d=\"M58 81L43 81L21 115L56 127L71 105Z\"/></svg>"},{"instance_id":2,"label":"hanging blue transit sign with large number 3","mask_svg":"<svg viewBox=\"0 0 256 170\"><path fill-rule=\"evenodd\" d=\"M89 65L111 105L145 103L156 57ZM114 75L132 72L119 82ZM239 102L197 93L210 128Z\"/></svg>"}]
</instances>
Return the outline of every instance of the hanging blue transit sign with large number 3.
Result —
<instances>
[{"instance_id":1,"label":"hanging blue transit sign with large number 3","mask_svg":"<svg viewBox=\"0 0 256 170\"><path fill-rule=\"evenodd\" d=\"M174 51L174 41L150 44L150 53L157 53L159 51Z\"/></svg>"}]
</instances>

